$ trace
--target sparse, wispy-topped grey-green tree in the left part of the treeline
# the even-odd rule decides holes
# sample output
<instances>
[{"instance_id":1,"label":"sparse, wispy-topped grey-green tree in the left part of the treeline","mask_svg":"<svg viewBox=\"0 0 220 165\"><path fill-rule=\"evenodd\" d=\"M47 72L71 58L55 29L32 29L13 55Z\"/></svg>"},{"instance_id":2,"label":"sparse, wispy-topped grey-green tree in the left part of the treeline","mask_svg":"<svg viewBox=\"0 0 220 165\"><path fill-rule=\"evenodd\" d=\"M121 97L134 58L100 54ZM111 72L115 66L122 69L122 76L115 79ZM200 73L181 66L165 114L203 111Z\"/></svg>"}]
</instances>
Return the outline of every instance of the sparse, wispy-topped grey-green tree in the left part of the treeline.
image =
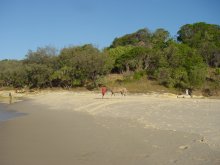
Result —
<instances>
[{"instance_id":1,"label":"sparse, wispy-topped grey-green tree in the left part of the treeline","mask_svg":"<svg viewBox=\"0 0 220 165\"><path fill-rule=\"evenodd\" d=\"M29 50L23 61L27 84L31 88L51 87L51 76L58 69L57 50L53 47L39 47Z\"/></svg>"}]
</instances>

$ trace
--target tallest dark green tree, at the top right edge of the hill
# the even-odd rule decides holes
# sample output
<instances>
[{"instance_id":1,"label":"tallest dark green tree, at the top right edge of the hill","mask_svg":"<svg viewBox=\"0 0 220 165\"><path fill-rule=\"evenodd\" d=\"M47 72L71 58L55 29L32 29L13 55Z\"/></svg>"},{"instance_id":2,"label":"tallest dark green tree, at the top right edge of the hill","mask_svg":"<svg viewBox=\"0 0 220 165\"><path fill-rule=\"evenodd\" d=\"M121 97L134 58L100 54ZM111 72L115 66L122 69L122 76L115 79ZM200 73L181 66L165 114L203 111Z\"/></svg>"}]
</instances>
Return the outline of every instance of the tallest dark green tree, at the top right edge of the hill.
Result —
<instances>
[{"instance_id":1,"label":"tallest dark green tree, at the top right edge of the hill","mask_svg":"<svg viewBox=\"0 0 220 165\"><path fill-rule=\"evenodd\" d=\"M210 66L219 66L220 26L204 22L186 24L178 31L178 41L198 50Z\"/></svg>"}]
</instances>

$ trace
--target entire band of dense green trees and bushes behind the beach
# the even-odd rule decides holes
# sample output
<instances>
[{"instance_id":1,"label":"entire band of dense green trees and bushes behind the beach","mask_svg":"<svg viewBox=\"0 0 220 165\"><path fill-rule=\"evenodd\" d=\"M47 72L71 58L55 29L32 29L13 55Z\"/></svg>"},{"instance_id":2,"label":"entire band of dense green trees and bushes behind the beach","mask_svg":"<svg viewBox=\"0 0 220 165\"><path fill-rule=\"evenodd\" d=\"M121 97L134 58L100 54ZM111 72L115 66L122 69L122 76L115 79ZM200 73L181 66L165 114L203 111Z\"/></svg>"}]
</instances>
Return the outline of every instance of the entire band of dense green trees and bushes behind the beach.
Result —
<instances>
[{"instance_id":1,"label":"entire band of dense green trees and bushes behind the beach","mask_svg":"<svg viewBox=\"0 0 220 165\"><path fill-rule=\"evenodd\" d=\"M0 87L97 87L109 73L149 79L168 88L220 89L220 26L187 24L177 38L160 28L115 38L104 50L93 45L57 52L44 47L24 60L0 61Z\"/></svg>"}]
</instances>

